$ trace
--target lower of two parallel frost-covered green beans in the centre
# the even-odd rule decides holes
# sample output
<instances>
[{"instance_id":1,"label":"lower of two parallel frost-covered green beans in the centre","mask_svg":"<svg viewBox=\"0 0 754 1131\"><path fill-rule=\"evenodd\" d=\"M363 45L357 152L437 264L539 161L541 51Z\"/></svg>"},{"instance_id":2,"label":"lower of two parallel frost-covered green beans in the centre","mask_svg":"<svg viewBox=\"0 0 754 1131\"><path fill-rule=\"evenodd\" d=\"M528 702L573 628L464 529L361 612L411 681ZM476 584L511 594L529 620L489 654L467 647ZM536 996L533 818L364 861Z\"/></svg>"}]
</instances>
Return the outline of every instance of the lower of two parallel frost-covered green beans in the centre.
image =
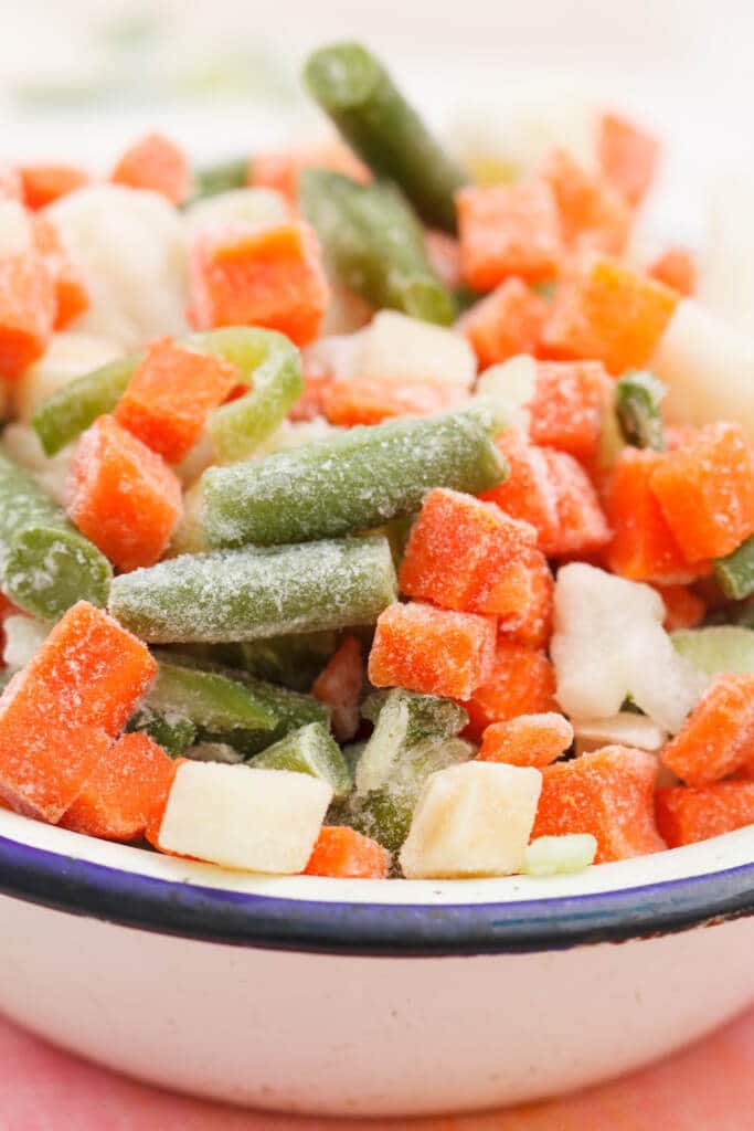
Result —
<instances>
[{"instance_id":1,"label":"lower of two parallel frost-covered green beans in the centre","mask_svg":"<svg viewBox=\"0 0 754 1131\"><path fill-rule=\"evenodd\" d=\"M385 538L184 554L115 578L110 610L142 640L255 640L373 624L396 596Z\"/></svg>"}]
</instances>

